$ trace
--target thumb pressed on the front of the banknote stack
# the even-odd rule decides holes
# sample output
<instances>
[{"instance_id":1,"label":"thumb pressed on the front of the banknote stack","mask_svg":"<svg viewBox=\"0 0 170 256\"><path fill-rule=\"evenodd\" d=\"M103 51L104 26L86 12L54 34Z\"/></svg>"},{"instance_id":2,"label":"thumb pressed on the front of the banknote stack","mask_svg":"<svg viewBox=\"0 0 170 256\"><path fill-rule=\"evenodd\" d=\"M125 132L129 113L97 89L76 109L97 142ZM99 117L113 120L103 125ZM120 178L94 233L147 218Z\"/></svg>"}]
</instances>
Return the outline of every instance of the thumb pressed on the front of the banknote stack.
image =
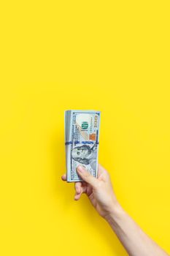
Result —
<instances>
[{"instance_id":1,"label":"thumb pressed on the front of the banknote stack","mask_svg":"<svg viewBox=\"0 0 170 256\"><path fill-rule=\"evenodd\" d=\"M83 167L82 165L78 165L76 170L77 170L77 173L80 175L80 177L83 179L83 181L86 181L92 187L96 187L97 178L93 177L88 172L88 170L85 169L85 167Z\"/></svg>"}]
</instances>

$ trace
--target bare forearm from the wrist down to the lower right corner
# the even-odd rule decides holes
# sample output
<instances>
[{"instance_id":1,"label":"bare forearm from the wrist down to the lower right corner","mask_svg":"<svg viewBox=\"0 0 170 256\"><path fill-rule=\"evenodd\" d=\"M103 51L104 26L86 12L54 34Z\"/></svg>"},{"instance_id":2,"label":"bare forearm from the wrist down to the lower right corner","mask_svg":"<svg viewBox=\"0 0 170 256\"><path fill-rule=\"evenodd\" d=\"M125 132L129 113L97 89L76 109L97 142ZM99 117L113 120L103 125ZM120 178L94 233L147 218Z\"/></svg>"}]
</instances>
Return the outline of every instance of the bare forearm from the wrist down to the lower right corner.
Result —
<instances>
[{"instance_id":1,"label":"bare forearm from the wrist down to the lower right corner","mask_svg":"<svg viewBox=\"0 0 170 256\"><path fill-rule=\"evenodd\" d=\"M117 206L106 217L107 222L131 256L167 256L152 239L128 216L123 208Z\"/></svg>"}]
</instances>

